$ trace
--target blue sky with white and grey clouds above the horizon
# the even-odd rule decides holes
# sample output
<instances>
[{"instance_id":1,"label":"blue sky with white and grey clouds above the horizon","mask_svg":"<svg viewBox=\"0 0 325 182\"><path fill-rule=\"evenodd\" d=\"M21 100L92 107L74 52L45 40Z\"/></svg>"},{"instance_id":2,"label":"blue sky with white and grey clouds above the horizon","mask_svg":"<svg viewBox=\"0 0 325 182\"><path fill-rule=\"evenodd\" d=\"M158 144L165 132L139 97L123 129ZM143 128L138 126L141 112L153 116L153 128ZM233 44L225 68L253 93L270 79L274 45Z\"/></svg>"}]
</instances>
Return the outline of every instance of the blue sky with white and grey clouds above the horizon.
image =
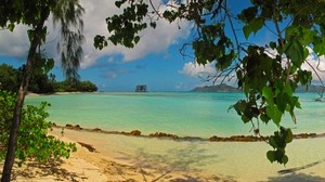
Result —
<instances>
[{"instance_id":1,"label":"blue sky with white and grey clouds above the horizon","mask_svg":"<svg viewBox=\"0 0 325 182\"><path fill-rule=\"evenodd\" d=\"M170 24L159 21L156 29L148 28L140 32L141 40L134 49L108 43L103 50L96 50L93 47L93 38L96 35L108 35L105 18L120 13L120 10L114 5L114 0L80 2L86 10L86 42L82 46L84 55L79 69L82 80L94 82L100 91L134 91L136 84L146 84L148 91L190 91L195 87L211 84L202 77L213 75L214 64L197 65L194 58L183 57L179 52L191 39L191 23ZM155 0L155 3L159 4L159 0ZM237 8L247 5L246 1L236 1ZM161 5L160 8L164 9ZM53 27L51 20L47 24L49 35L44 46L46 54L55 58L52 73L56 75L57 80L63 80L64 75L55 50L57 28ZM18 25L13 32L0 30L0 63L14 67L25 63L29 46L27 29L28 27ZM239 39L244 37L239 36ZM257 43L264 43L272 39L272 35L261 31L253 39ZM322 63L323 65L325 67ZM235 82L230 84L235 86Z\"/></svg>"}]
</instances>

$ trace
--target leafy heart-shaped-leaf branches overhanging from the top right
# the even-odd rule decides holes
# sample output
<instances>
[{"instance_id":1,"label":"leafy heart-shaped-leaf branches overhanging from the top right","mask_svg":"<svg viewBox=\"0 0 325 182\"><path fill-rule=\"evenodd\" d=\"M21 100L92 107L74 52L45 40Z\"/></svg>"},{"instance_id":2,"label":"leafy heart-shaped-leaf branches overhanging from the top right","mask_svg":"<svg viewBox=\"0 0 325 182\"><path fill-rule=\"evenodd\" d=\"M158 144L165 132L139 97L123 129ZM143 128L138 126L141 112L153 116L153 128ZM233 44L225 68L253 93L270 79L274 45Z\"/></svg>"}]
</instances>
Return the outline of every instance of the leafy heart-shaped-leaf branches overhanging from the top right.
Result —
<instances>
[{"instance_id":1,"label":"leafy heart-shaped-leaf branches overhanging from the top right","mask_svg":"<svg viewBox=\"0 0 325 182\"><path fill-rule=\"evenodd\" d=\"M244 123L251 123L256 134L260 134L260 122L273 121L277 126L266 141L273 147L266 157L272 162L286 164L285 148L292 141L292 132L282 126L282 119L288 113L294 122L297 120L295 108L300 108L300 103L295 90L312 80L311 72L302 69L302 64L311 65L308 55L325 54L325 1L250 0L239 13L233 11L238 9L235 3L171 0L155 6L152 0L117 0L115 5L122 13L106 18L109 35L98 35L94 46L103 49L109 41L133 48L141 39L141 30L156 28L159 20L190 22L194 37L181 53L190 47L198 64L216 62L219 74L214 78L225 80L236 75L246 100L232 108ZM161 5L165 8L159 9ZM266 44L250 42L261 31L269 31L271 40Z\"/></svg>"}]
</instances>

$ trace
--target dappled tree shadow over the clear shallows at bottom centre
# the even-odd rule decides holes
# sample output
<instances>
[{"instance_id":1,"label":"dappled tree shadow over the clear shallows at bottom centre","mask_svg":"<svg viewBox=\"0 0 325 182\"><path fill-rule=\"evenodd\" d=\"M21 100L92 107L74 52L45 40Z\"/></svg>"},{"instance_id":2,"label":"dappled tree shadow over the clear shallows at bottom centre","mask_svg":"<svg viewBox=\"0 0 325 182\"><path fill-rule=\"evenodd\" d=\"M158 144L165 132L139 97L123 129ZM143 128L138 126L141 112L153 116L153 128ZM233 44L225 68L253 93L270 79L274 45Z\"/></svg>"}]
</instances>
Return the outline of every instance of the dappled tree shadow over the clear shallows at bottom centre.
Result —
<instances>
[{"instance_id":1,"label":"dappled tree shadow over the clear shallows at bottom centre","mask_svg":"<svg viewBox=\"0 0 325 182\"><path fill-rule=\"evenodd\" d=\"M138 148L134 154L123 154L122 160L132 164L142 174L144 182L200 182L220 181L235 182L233 177L202 174L206 165L218 162L218 155L208 154L195 143L188 143L183 148L172 148L164 153L147 153L144 148ZM122 176L123 173L121 173ZM128 179L127 181L132 181Z\"/></svg>"}]
</instances>

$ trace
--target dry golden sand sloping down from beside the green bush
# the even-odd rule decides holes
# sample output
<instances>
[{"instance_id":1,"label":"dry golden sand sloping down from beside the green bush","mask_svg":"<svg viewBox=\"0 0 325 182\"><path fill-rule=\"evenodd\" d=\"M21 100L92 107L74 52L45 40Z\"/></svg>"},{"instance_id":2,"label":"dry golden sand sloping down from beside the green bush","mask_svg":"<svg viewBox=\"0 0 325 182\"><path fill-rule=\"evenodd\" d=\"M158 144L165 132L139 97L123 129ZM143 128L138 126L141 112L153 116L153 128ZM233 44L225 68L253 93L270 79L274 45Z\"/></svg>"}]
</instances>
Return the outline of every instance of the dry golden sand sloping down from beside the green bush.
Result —
<instances>
[{"instance_id":1,"label":"dry golden sand sloping down from beside the green bush","mask_svg":"<svg viewBox=\"0 0 325 182\"><path fill-rule=\"evenodd\" d=\"M76 130L65 130L61 134L61 129L53 129L50 134L65 142L74 142L77 145L77 152L72 153L68 159L62 158L46 165L28 161L23 167L14 166L12 181L17 182L56 182L56 181L89 181L89 182L140 182L140 181L218 181L219 179L231 180L231 177L205 177L200 174L187 174L177 170L157 173L155 170L143 169L141 166L113 159L110 155L103 155L101 150L90 152L83 144L83 139L70 140L69 138L80 138L79 134L87 138L87 132ZM88 140L86 140L89 142ZM81 143L81 144L79 144ZM94 146L94 148L98 147ZM100 148L100 147L99 147ZM116 157L116 156L115 156ZM0 164L2 168L3 164ZM145 168L145 167L144 167Z\"/></svg>"}]
</instances>

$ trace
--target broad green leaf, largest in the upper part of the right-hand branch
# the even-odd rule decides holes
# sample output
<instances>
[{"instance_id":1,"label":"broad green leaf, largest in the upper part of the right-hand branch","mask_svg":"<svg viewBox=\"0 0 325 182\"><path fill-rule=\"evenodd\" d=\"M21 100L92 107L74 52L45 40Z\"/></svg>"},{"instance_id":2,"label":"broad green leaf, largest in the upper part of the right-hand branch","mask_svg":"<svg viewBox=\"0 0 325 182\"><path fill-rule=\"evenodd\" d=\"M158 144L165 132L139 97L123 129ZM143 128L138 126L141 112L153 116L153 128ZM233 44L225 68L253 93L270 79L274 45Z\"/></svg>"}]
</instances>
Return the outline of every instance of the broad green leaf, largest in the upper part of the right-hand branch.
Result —
<instances>
[{"instance_id":1,"label":"broad green leaf, largest in the upper part of the right-hand branch","mask_svg":"<svg viewBox=\"0 0 325 182\"><path fill-rule=\"evenodd\" d=\"M297 67L301 66L303 62L304 53L303 53L303 47L298 40L290 41L287 48L285 49L285 53L287 57L292 61L292 64L295 66Z\"/></svg>"}]
</instances>

